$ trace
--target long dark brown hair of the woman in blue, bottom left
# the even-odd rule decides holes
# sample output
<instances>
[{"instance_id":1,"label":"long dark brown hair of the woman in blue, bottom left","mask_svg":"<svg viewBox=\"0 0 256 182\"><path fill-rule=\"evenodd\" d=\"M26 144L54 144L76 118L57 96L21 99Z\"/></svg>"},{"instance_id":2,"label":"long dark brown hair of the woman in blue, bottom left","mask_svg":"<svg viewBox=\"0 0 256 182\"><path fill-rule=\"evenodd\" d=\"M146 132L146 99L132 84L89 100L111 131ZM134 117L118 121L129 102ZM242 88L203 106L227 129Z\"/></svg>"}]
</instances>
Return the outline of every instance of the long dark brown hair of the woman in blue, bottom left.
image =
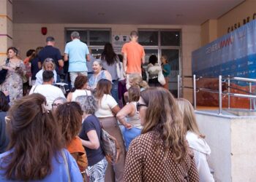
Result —
<instances>
[{"instance_id":1,"label":"long dark brown hair of the woman in blue, bottom left","mask_svg":"<svg viewBox=\"0 0 256 182\"><path fill-rule=\"evenodd\" d=\"M52 170L52 158L64 145L59 126L51 111L45 109L45 97L34 93L20 98L10 108L7 130L10 133L10 154L4 157L1 169L7 179L42 180Z\"/></svg>"}]
</instances>

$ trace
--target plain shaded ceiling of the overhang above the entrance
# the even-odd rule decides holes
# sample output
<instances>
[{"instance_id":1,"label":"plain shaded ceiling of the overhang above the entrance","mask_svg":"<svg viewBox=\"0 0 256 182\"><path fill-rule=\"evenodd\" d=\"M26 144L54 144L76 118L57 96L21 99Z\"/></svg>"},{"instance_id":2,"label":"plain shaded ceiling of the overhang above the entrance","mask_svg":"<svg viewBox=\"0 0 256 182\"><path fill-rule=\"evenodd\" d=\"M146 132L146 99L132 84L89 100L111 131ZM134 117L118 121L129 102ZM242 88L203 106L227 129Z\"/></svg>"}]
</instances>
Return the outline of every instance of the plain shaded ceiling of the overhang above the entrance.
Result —
<instances>
[{"instance_id":1,"label":"plain shaded ceiling of the overhang above the entrance","mask_svg":"<svg viewBox=\"0 0 256 182\"><path fill-rule=\"evenodd\" d=\"M14 23L200 25L244 0L13 0Z\"/></svg>"}]
</instances>

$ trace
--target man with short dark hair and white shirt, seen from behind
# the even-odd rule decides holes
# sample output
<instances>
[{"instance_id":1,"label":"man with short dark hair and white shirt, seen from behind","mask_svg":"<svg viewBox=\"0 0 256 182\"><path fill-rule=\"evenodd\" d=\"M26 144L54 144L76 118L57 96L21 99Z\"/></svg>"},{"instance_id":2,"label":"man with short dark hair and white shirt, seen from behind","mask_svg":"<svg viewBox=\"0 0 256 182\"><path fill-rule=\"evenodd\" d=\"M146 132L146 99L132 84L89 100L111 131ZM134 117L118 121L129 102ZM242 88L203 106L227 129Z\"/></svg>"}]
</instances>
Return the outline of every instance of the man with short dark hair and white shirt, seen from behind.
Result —
<instances>
[{"instance_id":1,"label":"man with short dark hair and white shirt, seen from behind","mask_svg":"<svg viewBox=\"0 0 256 182\"><path fill-rule=\"evenodd\" d=\"M65 96L59 87L53 86L53 71L44 71L42 73L42 80L43 83L41 85L34 85L31 88L29 95L32 93L39 93L44 95L47 101L46 106L50 110L52 108L53 100L59 97L65 98Z\"/></svg>"}]
</instances>

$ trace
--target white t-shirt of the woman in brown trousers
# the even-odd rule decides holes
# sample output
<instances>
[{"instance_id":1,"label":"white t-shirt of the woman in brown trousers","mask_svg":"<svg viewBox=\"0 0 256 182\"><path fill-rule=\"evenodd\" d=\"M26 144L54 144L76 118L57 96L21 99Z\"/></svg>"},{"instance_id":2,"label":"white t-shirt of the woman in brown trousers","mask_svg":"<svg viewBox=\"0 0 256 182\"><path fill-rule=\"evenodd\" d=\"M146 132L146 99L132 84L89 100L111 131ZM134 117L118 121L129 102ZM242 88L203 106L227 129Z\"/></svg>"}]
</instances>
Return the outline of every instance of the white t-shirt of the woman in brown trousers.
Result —
<instances>
[{"instance_id":1,"label":"white t-shirt of the woman in brown trousers","mask_svg":"<svg viewBox=\"0 0 256 182\"><path fill-rule=\"evenodd\" d=\"M117 106L116 100L108 94L104 94L101 102L99 103L99 108L95 112L97 117L111 117L114 116L112 113L112 108Z\"/></svg>"}]
</instances>

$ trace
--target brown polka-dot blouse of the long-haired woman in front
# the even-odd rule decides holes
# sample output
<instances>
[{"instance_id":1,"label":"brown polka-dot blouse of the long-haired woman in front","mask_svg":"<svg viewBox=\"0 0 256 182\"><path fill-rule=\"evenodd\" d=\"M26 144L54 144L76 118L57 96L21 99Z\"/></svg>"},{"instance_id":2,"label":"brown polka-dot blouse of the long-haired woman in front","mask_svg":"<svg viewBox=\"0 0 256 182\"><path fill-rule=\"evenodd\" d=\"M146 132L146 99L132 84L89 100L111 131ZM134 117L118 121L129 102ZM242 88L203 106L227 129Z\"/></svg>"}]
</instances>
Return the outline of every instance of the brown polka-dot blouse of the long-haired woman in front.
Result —
<instances>
[{"instance_id":1,"label":"brown polka-dot blouse of the long-haired woman in front","mask_svg":"<svg viewBox=\"0 0 256 182\"><path fill-rule=\"evenodd\" d=\"M124 181L185 181L184 176L189 175L189 181L196 181L192 173L197 173L193 154L187 154L184 163L177 163L173 159L172 150L167 151L165 157L163 145L160 145L157 154L154 145L155 132L147 132L135 138L129 145L129 153L126 161L131 161L132 165L126 165ZM136 157L135 157L136 156ZM139 162L140 161L140 162ZM139 173L133 173L137 171Z\"/></svg>"}]
</instances>

